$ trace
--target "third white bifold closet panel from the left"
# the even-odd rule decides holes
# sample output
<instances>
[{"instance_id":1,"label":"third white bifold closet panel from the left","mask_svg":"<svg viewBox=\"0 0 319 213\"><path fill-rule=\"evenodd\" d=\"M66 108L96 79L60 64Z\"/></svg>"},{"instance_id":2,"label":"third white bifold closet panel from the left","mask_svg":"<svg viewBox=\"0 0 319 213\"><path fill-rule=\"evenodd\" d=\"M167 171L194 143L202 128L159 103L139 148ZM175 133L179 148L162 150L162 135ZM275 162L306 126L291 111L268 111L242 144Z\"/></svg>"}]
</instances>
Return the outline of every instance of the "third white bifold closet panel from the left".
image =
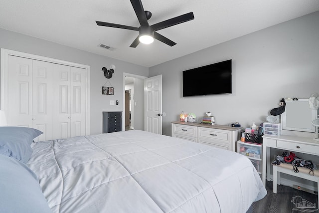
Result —
<instances>
[{"instance_id":1,"label":"third white bifold closet panel from the left","mask_svg":"<svg viewBox=\"0 0 319 213\"><path fill-rule=\"evenodd\" d=\"M53 64L53 138L69 138L71 130L71 67Z\"/></svg>"}]
</instances>

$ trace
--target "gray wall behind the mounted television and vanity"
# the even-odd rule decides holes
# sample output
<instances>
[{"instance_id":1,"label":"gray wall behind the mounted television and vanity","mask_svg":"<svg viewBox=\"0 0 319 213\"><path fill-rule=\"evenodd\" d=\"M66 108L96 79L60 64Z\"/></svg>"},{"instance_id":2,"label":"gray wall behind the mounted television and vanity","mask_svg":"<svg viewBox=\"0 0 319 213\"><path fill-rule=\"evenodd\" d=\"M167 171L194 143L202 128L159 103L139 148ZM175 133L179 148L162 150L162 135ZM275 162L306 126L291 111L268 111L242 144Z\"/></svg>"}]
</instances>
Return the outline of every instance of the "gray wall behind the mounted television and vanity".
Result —
<instances>
[{"instance_id":1,"label":"gray wall behind the mounted television and vanity","mask_svg":"<svg viewBox=\"0 0 319 213\"><path fill-rule=\"evenodd\" d=\"M319 92L319 12L296 18L150 68L163 76L163 135L180 111L211 111L217 124L265 121L281 98ZM182 71L232 59L233 93L182 97Z\"/></svg>"}]
</instances>

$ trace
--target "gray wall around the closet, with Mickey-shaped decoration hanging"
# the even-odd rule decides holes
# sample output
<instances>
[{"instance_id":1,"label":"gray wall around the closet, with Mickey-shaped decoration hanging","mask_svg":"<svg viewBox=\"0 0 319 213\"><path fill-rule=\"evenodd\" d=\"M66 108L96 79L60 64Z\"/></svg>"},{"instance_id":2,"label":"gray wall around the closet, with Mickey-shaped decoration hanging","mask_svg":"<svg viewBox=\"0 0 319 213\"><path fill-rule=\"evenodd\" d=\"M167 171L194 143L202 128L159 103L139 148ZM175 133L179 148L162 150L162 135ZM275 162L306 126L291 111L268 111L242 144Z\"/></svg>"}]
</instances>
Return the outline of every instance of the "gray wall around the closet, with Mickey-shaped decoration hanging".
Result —
<instances>
[{"instance_id":1,"label":"gray wall around the closet, with Mickey-shaped decoration hanging","mask_svg":"<svg viewBox=\"0 0 319 213\"><path fill-rule=\"evenodd\" d=\"M123 111L123 72L141 76L149 75L147 67L85 52L1 28L0 48L91 66L91 134L102 133L102 111ZM102 67L110 68L111 64L116 66L113 77L109 79L109 82L114 87L114 95L102 95L101 87L107 82L107 79L103 76ZM108 83L106 86L110 86L110 84ZM110 105L110 100L119 100L119 105Z\"/></svg>"}]
</instances>

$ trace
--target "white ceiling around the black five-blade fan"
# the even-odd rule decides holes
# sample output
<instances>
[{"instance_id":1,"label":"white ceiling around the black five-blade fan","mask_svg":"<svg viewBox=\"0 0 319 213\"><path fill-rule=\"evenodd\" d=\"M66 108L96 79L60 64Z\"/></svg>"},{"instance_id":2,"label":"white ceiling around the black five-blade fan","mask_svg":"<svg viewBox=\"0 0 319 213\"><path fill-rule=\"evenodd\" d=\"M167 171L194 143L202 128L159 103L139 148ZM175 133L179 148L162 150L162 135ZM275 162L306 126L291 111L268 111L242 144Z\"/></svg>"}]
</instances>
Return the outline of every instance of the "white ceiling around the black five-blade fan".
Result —
<instances>
[{"instance_id":1,"label":"white ceiling around the black five-blade fan","mask_svg":"<svg viewBox=\"0 0 319 213\"><path fill-rule=\"evenodd\" d=\"M139 27L130 0L0 0L0 28L151 67L218 43L319 11L319 0L142 0L149 24L188 13L194 20L158 32L158 40L129 47L138 31L98 26L95 20ZM99 47L103 43L113 50Z\"/></svg>"}]
</instances>

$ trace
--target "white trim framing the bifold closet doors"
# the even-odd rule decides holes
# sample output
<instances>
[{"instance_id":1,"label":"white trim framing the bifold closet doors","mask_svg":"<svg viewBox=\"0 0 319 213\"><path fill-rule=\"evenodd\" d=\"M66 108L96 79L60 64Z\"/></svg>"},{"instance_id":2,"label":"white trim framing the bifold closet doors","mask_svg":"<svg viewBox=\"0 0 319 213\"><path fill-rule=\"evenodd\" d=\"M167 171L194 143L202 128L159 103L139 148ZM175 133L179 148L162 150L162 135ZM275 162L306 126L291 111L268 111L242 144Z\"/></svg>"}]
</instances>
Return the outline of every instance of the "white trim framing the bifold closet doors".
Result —
<instances>
[{"instance_id":1,"label":"white trim framing the bifold closet doors","mask_svg":"<svg viewBox=\"0 0 319 213\"><path fill-rule=\"evenodd\" d=\"M18 52L10 49L0 48L0 110L6 110L8 96L5 95L7 91L7 82L4 79L7 79L8 76L8 57L9 55L30 58L34 60L46 61L56 64L62 64L67 66L79 67L86 69L86 135L90 134L90 72L91 67L84 64L73 63L69 61L63 61L54 58L48 58L40 55L33 55L25 52Z\"/></svg>"}]
</instances>

